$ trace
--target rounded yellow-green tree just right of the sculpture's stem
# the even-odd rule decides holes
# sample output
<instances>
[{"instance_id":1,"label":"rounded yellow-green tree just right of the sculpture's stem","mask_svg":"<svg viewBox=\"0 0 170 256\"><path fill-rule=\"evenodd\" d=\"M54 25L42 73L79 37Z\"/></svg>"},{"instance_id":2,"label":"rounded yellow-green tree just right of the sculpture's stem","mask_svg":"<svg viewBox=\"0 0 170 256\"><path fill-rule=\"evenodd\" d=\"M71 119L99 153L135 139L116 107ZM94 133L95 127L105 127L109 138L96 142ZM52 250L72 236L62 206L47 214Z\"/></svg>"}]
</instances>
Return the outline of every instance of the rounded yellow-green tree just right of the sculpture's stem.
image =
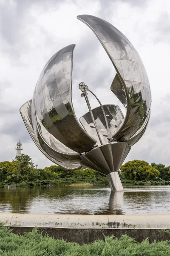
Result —
<instances>
[{"instance_id":1,"label":"rounded yellow-green tree just right of the sculpture's stem","mask_svg":"<svg viewBox=\"0 0 170 256\"><path fill-rule=\"evenodd\" d=\"M141 160L129 161L120 170L127 180L153 180L160 175L157 169Z\"/></svg>"}]
</instances>

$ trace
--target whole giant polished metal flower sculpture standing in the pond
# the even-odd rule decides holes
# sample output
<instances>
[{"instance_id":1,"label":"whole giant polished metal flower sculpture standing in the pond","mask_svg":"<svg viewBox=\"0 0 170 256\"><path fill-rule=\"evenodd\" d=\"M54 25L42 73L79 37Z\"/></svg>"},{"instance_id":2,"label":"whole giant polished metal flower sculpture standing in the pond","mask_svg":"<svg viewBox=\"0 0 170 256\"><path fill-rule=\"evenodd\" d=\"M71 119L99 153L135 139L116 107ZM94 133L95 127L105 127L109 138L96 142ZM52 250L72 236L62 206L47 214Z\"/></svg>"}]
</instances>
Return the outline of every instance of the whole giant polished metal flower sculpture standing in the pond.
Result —
<instances>
[{"instance_id":1,"label":"whole giant polished metal flower sculpture standing in the pond","mask_svg":"<svg viewBox=\"0 0 170 256\"><path fill-rule=\"evenodd\" d=\"M91 28L116 69L111 92L126 108L125 117L116 105L102 106L99 102L99 107L92 110L87 91L92 92L82 82L79 89L89 112L80 118L80 125L71 99L74 44L50 58L37 81L33 99L20 108L20 113L34 143L48 159L70 170L85 166L94 169L108 176L112 190L121 191L118 170L130 147L144 134L150 118L147 73L138 52L122 32L98 17L77 18Z\"/></svg>"}]
</instances>

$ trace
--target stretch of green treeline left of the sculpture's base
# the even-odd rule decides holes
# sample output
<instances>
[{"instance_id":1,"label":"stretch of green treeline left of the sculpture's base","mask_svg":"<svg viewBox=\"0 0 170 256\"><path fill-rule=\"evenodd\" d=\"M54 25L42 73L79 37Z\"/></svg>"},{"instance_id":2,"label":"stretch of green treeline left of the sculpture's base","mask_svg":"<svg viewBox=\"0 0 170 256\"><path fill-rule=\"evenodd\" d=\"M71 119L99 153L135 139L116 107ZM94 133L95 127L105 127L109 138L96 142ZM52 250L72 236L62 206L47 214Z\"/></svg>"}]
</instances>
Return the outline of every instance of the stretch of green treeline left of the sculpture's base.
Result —
<instances>
[{"instance_id":1,"label":"stretch of green treeline left of the sculpture's base","mask_svg":"<svg viewBox=\"0 0 170 256\"><path fill-rule=\"evenodd\" d=\"M36 169L31 157L26 154L16 156L11 162L0 162L0 186L15 183L23 186L41 186L48 183L67 185L82 182L108 184L105 175L92 169L69 171L60 166Z\"/></svg>"}]
</instances>

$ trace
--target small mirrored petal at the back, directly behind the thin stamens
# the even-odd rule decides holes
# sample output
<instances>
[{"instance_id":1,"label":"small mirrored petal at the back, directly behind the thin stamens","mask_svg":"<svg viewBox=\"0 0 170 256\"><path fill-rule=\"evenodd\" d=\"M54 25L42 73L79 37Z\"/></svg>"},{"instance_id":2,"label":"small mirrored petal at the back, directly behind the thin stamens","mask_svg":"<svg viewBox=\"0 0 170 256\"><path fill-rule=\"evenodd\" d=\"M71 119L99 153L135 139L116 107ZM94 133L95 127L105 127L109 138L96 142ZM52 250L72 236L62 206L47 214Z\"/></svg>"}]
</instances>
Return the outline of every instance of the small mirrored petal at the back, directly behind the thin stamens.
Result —
<instances>
[{"instance_id":1,"label":"small mirrored petal at the back, directly behind the thin stamens","mask_svg":"<svg viewBox=\"0 0 170 256\"><path fill-rule=\"evenodd\" d=\"M103 105L102 106L108 122L108 129L106 126L105 116L103 115L103 111L101 107L94 108L92 110L94 119L99 130L100 137L102 139L102 143L108 143L108 133L111 135L119 129L124 121L124 116L122 111L117 105ZM96 129L94 127L94 122L91 118L90 113L86 113L84 116L80 117L80 122L84 127L85 131L93 137L97 143L99 143L99 138L96 134Z\"/></svg>"}]
</instances>

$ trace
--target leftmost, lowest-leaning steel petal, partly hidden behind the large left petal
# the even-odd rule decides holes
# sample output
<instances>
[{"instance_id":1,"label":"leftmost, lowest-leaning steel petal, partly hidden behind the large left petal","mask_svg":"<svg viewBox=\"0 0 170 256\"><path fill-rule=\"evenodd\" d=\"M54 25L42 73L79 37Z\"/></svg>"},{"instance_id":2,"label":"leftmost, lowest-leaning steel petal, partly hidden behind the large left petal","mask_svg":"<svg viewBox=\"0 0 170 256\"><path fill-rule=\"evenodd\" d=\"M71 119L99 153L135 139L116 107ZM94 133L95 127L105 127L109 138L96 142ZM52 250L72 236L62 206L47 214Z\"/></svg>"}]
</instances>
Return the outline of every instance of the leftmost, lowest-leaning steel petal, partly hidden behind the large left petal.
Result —
<instances>
[{"instance_id":1,"label":"leftmost, lowest-leaning steel petal, partly hidden behind the large left petal","mask_svg":"<svg viewBox=\"0 0 170 256\"><path fill-rule=\"evenodd\" d=\"M37 145L40 151L45 155L45 157L47 157L49 160L51 160L55 164L69 170L81 169L82 165L79 164L79 161L80 161L79 154L74 154L74 155L60 154L59 152L55 151L54 148L51 148L47 143L45 143L45 141L42 139L42 137L38 132L37 134L34 132L33 122L31 118L31 102L32 100L26 102L20 108L20 113L34 143Z\"/></svg>"}]
</instances>

